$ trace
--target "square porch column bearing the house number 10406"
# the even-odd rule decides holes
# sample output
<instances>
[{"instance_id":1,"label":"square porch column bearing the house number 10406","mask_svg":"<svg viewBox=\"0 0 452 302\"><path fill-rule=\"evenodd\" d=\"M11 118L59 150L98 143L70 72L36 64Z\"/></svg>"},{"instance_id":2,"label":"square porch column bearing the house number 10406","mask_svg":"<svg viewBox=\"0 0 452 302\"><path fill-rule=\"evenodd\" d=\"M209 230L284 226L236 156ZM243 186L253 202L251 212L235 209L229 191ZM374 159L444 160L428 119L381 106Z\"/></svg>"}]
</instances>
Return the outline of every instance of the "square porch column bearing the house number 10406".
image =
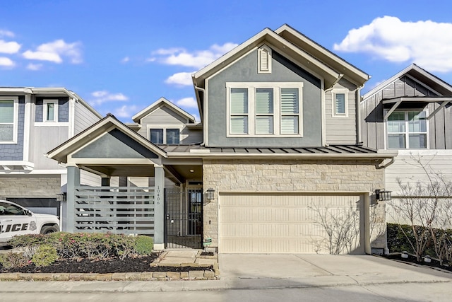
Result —
<instances>
[{"instance_id":1,"label":"square porch column bearing the house number 10406","mask_svg":"<svg viewBox=\"0 0 452 302\"><path fill-rule=\"evenodd\" d=\"M165 248L165 210L163 199L165 190L165 170L162 165L154 165L154 249Z\"/></svg>"}]
</instances>

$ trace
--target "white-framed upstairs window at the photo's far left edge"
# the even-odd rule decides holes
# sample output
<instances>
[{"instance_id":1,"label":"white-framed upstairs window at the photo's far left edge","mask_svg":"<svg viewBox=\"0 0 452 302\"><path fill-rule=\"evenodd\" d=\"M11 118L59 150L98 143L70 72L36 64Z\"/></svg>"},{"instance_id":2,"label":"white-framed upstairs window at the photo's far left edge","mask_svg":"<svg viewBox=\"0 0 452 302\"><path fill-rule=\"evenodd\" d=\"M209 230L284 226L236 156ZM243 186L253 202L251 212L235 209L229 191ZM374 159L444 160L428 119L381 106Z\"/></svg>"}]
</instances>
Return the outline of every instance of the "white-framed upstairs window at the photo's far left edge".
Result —
<instances>
[{"instance_id":1,"label":"white-framed upstairs window at the photo's far left edge","mask_svg":"<svg viewBox=\"0 0 452 302\"><path fill-rule=\"evenodd\" d=\"M17 142L18 98L0 97L0 143Z\"/></svg>"}]
</instances>

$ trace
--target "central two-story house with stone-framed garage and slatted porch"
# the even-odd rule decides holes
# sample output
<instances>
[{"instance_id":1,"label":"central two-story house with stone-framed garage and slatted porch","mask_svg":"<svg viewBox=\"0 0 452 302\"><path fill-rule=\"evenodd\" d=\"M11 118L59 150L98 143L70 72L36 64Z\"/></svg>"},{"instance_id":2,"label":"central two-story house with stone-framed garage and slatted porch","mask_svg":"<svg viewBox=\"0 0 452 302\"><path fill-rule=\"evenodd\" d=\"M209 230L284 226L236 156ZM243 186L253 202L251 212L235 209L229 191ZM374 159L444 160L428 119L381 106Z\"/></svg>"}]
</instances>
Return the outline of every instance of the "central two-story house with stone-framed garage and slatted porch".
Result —
<instances>
[{"instance_id":1,"label":"central two-story house with stone-framed garage and slatted porch","mask_svg":"<svg viewBox=\"0 0 452 302\"><path fill-rule=\"evenodd\" d=\"M66 231L148 233L155 248L194 238L218 252L383 249L374 191L397 151L359 144L368 79L288 25L262 30L193 75L201 123L160 99L136 124L109 115L47 153L71 180ZM81 170L105 186L80 186ZM126 187L108 187L115 176ZM347 229L340 246L325 219Z\"/></svg>"}]
</instances>

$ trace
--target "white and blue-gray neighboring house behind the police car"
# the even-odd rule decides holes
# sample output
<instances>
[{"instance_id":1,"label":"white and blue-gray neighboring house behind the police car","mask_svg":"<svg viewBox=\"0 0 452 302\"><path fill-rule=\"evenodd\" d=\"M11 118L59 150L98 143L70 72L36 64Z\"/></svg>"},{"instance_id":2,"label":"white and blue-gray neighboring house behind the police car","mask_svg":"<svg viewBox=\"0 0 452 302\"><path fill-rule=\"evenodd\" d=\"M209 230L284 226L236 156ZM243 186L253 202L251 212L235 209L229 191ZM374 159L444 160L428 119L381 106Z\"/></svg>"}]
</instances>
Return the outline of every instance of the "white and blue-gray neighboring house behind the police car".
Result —
<instances>
[{"instance_id":1,"label":"white and blue-gray neighboring house behind the police car","mask_svg":"<svg viewBox=\"0 0 452 302\"><path fill-rule=\"evenodd\" d=\"M44 153L100 118L65 88L1 87L0 196L37 213L59 214L66 168Z\"/></svg>"}]
</instances>

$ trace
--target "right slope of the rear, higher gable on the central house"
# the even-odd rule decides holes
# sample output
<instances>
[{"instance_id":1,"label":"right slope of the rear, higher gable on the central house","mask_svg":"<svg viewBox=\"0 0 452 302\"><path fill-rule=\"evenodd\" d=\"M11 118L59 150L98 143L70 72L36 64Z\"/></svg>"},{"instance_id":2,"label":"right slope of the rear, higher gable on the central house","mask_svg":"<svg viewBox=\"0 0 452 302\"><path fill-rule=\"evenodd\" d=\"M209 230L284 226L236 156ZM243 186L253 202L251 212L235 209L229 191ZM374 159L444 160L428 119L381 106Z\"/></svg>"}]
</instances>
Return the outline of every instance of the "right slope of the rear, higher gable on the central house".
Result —
<instances>
[{"instance_id":1,"label":"right slope of the rear, higher gable on the central house","mask_svg":"<svg viewBox=\"0 0 452 302\"><path fill-rule=\"evenodd\" d=\"M344 74L347 79L352 81L352 83L355 83L357 86L362 86L371 77L369 74L366 74L361 69L358 69L344 59L338 57L338 55L330 52L325 47L309 39L306 35L299 33L298 30L291 28L287 24L284 24L275 30L275 33L294 45L297 45L297 47L300 47L305 52L308 52L313 57L316 57L332 69Z\"/></svg>"}]
</instances>

